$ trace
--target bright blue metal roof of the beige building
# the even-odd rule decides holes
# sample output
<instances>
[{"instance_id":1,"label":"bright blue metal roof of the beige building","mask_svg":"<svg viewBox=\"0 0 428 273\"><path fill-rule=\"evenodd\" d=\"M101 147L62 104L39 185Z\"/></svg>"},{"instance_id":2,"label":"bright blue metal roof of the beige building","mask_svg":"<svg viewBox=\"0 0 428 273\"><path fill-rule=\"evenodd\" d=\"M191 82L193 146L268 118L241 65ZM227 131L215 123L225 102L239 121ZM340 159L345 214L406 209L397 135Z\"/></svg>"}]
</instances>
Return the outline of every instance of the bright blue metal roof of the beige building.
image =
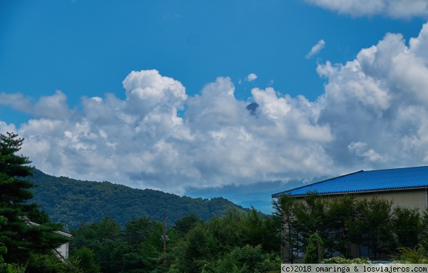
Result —
<instances>
[{"instance_id":1,"label":"bright blue metal roof of the beige building","mask_svg":"<svg viewBox=\"0 0 428 273\"><path fill-rule=\"evenodd\" d=\"M308 191L317 191L318 194L322 195L417 187L428 187L428 166L389 170L360 170L360 172L352 172L349 175L278 192L273 194L272 198L284 194L301 196L306 195Z\"/></svg>"}]
</instances>

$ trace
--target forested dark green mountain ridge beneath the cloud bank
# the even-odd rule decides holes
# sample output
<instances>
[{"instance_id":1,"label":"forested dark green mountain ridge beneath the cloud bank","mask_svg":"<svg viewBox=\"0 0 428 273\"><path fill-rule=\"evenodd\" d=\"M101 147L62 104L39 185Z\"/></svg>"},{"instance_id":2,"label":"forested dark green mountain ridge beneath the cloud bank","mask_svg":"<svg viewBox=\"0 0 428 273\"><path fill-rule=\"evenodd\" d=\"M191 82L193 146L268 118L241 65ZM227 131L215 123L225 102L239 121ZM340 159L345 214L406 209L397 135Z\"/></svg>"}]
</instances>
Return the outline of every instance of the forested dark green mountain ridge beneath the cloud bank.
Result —
<instances>
[{"instance_id":1,"label":"forested dark green mountain ridge beneath the cloud bank","mask_svg":"<svg viewBox=\"0 0 428 273\"><path fill-rule=\"evenodd\" d=\"M163 212L167 225L189 214L202 220L224 215L229 208L243 207L222 197L210 200L180 197L159 190L138 190L111 182L75 180L68 177L46 175L34 169L30 178L33 188L31 202L41 204L53 222L61 222L66 228L76 228L82 222L99 222L110 217L123 225L132 218L151 217L162 221Z\"/></svg>"}]
</instances>

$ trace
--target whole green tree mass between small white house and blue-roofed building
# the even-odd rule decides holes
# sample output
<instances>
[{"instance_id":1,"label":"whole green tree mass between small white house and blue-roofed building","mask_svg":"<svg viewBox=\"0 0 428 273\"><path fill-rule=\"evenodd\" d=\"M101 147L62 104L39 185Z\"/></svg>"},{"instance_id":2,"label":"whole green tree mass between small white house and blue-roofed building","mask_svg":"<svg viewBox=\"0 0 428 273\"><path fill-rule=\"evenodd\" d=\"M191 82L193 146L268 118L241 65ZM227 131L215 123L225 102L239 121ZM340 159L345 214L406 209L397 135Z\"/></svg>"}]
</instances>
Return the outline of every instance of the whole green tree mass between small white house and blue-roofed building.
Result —
<instances>
[{"instance_id":1,"label":"whole green tree mass between small white house and blue-roofed building","mask_svg":"<svg viewBox=\"0 0 428 273\"><path fill-rule=\"evenodd\" d=\"M121 226L111 218L72 230L71 259L89 249L91 272L279 272L277 222L256 210L231 209L203 221L187 215L166 234L161 222L135 218ZM89 271L88 271L89 272Z\"/></svg>"}]
</instances>

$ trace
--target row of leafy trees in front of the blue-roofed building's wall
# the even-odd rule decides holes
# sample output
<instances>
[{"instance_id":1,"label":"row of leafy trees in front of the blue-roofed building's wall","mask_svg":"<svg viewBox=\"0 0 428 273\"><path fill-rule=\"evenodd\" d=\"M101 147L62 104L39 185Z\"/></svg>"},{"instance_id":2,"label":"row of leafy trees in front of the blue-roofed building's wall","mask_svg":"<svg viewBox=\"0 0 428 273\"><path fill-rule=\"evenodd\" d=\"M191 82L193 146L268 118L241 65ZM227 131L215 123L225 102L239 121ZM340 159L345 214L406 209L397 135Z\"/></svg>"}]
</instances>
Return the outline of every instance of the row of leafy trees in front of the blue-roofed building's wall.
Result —
<instances>
[{"instance_id":1,"label":"row of leafy trees in front of the blue-roofed building's wall","mask_svg":"<svg viewBox=\"0 0 428 273\"><path fill-rule=\"evenodd\" d=\"M352 244L367 247L371 259L397 254L397 247L427 247L427 211L421 215L417 208L395 206L376 195L328 198L308 192L304 201L282 195L274 208L282 220L283 246L290 253L286 262L294 262L304 252L315 232L324 242L325 257L335 252L350 257Z\"/></svg>"}]
</instances>

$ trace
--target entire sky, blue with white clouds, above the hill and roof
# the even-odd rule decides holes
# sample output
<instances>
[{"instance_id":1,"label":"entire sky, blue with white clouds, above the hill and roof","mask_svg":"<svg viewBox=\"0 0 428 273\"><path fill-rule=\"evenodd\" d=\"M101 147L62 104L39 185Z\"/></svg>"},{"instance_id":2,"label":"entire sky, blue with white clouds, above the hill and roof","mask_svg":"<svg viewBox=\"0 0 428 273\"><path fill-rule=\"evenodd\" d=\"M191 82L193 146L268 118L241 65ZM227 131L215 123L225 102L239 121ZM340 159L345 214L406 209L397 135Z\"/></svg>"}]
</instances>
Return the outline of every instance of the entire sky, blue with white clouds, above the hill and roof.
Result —
<instances>
[{"instance_id":1,"label":"entire sky, blue with white clouds, above the hill and roof","mask_svg":"<svg viewBox=\"0 0 428 273\"><path fill-rule=\"evenodd\" d=\"M0 131L51 175L243 204L426 165L427 2L338 3L0 1Z\"/></svg>"}]
</instances>

